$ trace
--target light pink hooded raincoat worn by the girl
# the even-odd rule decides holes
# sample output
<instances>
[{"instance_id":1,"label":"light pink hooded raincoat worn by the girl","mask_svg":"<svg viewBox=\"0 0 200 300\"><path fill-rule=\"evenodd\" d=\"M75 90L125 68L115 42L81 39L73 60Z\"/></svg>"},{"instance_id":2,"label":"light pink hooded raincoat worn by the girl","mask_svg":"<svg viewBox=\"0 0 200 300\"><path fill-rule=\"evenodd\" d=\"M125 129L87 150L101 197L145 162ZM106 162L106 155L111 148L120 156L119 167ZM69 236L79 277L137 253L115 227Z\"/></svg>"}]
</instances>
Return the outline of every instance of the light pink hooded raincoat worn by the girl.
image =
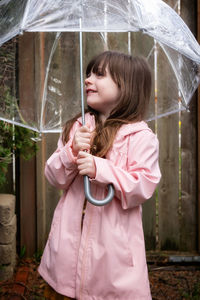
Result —
<instances>
[{"instance_id":1,"label":"light pink hooded raincoat worn by the girl","mask_svg":"<svg viewBox=\"0 0 200 300\"><path fill-rule=\"evenodd\" d=\"M95 127L94 117L86 123ZM41 276L60 294L78 300L150 300L141 204L160 180L158 140L145 122L123 125L106 159L94 157L97 199L112 183L115 198L106 206L84 205L83 178L72 153L77 120L66 145L61 140L46 163L46 177L63 195L54 212L39 267Z\"/></svg>"}]
</instances>

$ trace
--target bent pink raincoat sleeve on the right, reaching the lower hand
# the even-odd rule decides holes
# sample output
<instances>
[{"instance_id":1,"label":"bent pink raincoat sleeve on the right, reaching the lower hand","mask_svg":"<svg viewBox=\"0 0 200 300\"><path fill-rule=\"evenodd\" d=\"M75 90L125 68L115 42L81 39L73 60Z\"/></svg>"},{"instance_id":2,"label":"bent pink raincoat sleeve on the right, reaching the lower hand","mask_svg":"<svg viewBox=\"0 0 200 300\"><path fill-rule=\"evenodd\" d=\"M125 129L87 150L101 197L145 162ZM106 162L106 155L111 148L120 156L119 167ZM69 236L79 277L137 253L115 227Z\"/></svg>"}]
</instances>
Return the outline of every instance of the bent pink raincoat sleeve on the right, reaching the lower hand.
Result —
<instances>
[{"instance_id":1,"label":"bent pink raincoat sleeve on the right, reaching the lower hand","mask_svg":"<svg viewBox=\"0 0 200 300\"><path fill-rule=\"evenodd\" d=\"M158 149L157 137L152 132L130 135L126 170L108 159L95 157L95 181L103 185L112 183L124 209L142 204L160 181Z\"/></svg>"}]
</instances>

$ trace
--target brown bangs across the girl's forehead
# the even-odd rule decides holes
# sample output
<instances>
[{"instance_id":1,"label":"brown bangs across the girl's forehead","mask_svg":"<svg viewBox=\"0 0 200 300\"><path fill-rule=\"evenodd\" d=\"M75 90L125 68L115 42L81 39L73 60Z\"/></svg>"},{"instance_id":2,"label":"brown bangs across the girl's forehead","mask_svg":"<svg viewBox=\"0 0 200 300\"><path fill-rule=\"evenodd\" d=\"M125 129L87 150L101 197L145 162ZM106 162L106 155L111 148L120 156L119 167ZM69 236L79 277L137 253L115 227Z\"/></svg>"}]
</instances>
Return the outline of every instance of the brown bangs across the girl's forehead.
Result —
<instances>
[{"instance_id":1,"label":"brown bangs across the girl's forehead","mask_svg":"<svg viewBox=\"0 0 200 300\"><path fill-rule=\"evenodd\" d=\"M87 66L86 77L89 77L91 72L98 75L106 75L106 67L109 68L110 55L109 52L104 52L96 57L94 57ZM110 68L109 68L110 69Z\"/></svg>"}]
</instances>

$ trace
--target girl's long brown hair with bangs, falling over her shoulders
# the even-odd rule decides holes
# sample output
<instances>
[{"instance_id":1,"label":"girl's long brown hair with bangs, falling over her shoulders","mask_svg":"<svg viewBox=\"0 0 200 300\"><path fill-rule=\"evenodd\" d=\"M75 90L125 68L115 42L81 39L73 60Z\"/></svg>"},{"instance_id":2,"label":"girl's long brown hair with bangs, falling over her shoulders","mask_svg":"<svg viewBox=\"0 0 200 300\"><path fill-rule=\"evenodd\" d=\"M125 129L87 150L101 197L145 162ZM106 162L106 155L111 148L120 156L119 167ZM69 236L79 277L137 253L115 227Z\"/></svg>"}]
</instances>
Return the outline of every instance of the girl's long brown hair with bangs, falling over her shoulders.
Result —
<instances>
[{"instance_id":1,"label":"girl's long brown hair with bangs, falling over her shoulders","mask_svg":"<svg viewBox=\"0 0 200 300\"><path fill-rule=\"evenodd\" d=\"M105 157L112 147L118 129L127 123L141 121L149 104L151 95L151 71L143 57L133 57L116 51L105 51L94 57L88 64L86 76L91 72L106 74L106 68L119 88L119 99L110 116L102 124L99 113L88 107L86 110L94 115L96 129L91 145L91 153L99 157ZM116 99L117 100L117 99ZM69 132L77 115L65 124L62 140L66 143Z\"/></svg>"}]
</instances>

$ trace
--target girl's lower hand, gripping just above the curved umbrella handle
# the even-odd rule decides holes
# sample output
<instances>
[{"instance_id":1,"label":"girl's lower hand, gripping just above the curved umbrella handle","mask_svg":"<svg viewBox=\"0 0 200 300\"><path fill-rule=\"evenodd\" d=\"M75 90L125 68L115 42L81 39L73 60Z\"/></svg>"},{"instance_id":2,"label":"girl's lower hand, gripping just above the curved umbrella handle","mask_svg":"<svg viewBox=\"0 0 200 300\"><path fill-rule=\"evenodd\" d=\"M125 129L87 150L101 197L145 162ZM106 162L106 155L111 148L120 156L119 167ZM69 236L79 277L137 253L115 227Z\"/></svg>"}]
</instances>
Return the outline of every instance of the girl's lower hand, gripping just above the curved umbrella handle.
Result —
<instances>
[{"instance_id":1,"label":"girl's lower hand, gripping just above the curved umbrella handle","mask_svg":"<svg viewBox=\"0 0 200 300\"><path fill-rule=\"evenodd\" d=\"M90 178L96 177L96 166L93 155L84 151L79 151L76 163L80 175L87 175Z\"/></svg>"}]
</instances>

